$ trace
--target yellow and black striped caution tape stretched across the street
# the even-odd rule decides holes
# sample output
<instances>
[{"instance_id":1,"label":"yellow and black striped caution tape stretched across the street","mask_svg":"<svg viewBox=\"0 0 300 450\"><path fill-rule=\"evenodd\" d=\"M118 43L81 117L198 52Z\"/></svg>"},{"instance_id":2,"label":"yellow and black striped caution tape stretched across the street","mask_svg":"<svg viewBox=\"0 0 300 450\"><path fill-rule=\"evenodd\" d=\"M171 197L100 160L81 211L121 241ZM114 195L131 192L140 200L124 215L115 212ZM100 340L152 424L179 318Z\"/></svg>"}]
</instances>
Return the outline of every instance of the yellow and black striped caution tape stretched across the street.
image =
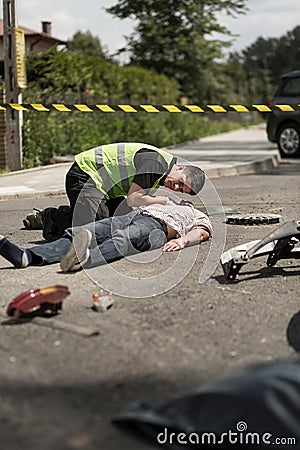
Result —
<instances>
[{"instance_id":1,"label":"yellow and black striped caution tape stretched across the street","mask_svg":"<svg viewBox=\"0 0 300 450\"><path fill-rule=\"evenodd\" d=\"M64 103L51 103L49 105L43 105L42 103L2 103L0 104L0 111L16 110L16 111L39 111L39 112L146 112L146 113L158 113L158 112L190 112L190 113L226 113L226 112L238 112L247 113L250 111L259 112L272 112L272 111L284 111L293 112L300 111L300 104L298 105L128 105L128 104L96 104L88 105L83 103L76 103L73 105L66 105Z\"/></svg>"}]
</instances>

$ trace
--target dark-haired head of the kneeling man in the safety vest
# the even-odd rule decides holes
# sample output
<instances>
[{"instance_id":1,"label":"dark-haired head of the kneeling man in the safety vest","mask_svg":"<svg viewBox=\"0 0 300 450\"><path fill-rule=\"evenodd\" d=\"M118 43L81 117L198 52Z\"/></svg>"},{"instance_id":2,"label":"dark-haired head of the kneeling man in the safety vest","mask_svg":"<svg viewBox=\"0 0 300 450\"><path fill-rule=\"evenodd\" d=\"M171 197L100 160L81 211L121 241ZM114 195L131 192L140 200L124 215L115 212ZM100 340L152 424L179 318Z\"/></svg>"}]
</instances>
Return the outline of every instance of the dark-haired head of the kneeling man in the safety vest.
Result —
<instances>
[{"instance_id":1,"label":"dark-haired head of the kneeling man in the safety vest","mask_svg":"<svg viewBox=\"0 0 300 450\"><path fill-rule=\"evenodd\" d=\"M172 191L196 195L204 182L205 174L200 167L175 164L166 176L164 186Z\"/></svg>"}]
</instances>

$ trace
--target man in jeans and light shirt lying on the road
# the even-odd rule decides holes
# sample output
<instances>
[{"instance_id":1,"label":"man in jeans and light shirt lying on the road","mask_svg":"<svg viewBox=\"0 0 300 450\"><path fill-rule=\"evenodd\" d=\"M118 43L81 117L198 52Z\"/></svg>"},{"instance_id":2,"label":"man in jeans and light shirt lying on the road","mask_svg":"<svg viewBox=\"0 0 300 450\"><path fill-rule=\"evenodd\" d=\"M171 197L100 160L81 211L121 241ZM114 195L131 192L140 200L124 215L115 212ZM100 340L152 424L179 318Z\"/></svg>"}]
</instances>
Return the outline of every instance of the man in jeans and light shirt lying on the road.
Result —
<instances>
[{"instance_id":1,"label":"man in jeans and light shirt lying on the road","mask_svg":"<svg viewBox=\"0 0 300 450\"><path fill-rule=\"evenodd\" d=\"M209 218L191 203L155 204L68 228L60 239L30 249L0 235L0 255L15 268L60 262L63 272L74 272L155 248L173 252L206 241L211 233Z\"/></svg>"}]
</instances>

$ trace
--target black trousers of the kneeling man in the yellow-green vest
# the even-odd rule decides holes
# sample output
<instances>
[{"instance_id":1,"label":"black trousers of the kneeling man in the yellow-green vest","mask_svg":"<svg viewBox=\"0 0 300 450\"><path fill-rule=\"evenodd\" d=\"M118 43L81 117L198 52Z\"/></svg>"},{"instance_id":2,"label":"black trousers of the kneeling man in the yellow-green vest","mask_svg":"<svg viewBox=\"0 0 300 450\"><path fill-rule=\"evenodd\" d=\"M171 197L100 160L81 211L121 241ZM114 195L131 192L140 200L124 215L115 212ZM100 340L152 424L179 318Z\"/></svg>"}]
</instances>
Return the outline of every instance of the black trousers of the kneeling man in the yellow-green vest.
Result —
<instances>
[{"instance_id":1,"label":"black trousers of the kneeling man in the yellow-green vest","mask_svg":"<svg viewBox=\"0 0 300 450\"><path fill-rule=\"evenodd\" d=\"M55 208L50 216L61 230L131 211L125 197L106 200L92 178L76 162L66 174L65 187L70 206Z\"/></svg>"}]
</instances>

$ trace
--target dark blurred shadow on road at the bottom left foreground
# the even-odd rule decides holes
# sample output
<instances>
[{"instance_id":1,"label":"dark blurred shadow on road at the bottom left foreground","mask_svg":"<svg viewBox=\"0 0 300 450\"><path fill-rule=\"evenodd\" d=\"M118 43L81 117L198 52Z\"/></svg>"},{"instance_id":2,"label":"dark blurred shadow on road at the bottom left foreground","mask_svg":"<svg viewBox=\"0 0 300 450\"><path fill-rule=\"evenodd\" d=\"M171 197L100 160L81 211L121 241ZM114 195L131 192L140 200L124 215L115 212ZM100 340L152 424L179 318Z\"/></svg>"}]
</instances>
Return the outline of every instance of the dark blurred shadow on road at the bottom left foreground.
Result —
<instances>
[{"instance_id":1,"label":"dark blurred shadow on road at the bottom left foreground","mask_svg":"<svg viewBox=\"0 0 300 450\"><path fill-rule=\"evenodd\" d=\"M3 380L0 384L1 448L9 450L146 450L112 424L112 420L137 399L159 404L194 387L190 374L177 382L157 377L108 380L81 384L28 384ZM194 374L195 375L195 374ZM182 377L182 378L181 378ZM150 445L149 445L150 444Z\"/></svg>"}]
</instances>

